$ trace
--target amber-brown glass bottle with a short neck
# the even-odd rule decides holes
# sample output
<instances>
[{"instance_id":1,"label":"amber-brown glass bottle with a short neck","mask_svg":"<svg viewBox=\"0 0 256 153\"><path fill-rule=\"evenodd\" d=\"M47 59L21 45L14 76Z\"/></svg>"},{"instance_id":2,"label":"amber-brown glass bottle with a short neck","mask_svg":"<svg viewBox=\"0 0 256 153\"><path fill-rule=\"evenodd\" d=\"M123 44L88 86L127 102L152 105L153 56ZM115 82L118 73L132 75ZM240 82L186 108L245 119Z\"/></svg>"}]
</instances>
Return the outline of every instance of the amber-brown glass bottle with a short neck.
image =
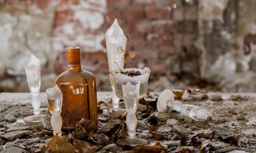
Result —
<instances>
[{"instance_id":1,"label":"amber-brown glass bottle with a short neck","mask_svg":"<svg viewBox=\"0 0 256 153\"><path fill-rule=\"evenodd\" d=\"M75 129L76 123L87 117L98 122L96 78L94 74L81 69L80 48L67 49L68 70L55 80L62 99L62 129Z\"/></svg>"}]
</instances>

